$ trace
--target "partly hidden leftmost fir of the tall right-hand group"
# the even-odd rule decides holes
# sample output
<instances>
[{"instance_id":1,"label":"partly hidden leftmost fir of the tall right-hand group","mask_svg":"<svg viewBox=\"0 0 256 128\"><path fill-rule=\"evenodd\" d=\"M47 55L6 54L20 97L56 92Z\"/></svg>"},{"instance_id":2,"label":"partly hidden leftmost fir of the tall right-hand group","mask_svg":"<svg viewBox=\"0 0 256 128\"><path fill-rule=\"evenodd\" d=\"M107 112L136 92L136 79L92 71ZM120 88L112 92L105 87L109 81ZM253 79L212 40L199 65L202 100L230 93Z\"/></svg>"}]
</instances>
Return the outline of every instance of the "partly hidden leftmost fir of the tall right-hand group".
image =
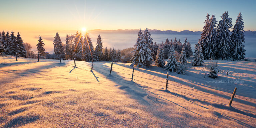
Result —
<instances>
[{"instance_id":1,"label":"partly hidden leftmost fir of the tall right-hand group","mask_svg":"<svg viewBox=\"0 0 256 128\"><path fill-rule=\"evenodd\" d=\"M201 33L201 38L200 38L200 43L199 43L199 44L201 44L203 55L204 55L205 47L207 46L207 44L206 44L206 42L205 42L205 40L206 40L205 34L206 34L207 31L208 31L208 26L209 26L209 22L210 22L209 16L210 16L210 15L207 13L207 15L206 15L206 20L204 21L205 26L203 27L203 31L202 31L202 33ZM196 49L196 50L197 50L197 49ZM195 52L196 52L196 51L195 51Z\"/></svg>"}]
</instances>

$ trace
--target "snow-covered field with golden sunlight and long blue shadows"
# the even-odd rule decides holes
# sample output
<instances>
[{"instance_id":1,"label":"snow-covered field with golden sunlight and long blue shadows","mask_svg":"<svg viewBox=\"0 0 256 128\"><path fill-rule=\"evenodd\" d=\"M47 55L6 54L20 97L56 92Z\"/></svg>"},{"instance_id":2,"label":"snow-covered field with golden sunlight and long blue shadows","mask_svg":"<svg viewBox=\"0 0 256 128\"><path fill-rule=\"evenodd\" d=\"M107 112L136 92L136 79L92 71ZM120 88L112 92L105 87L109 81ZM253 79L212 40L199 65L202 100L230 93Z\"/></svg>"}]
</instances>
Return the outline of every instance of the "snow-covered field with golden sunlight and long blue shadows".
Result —
<instances>
[{"instance_id":1,"label":"snow-covered field with golden sunlight and long blue shadows","mask_svg":"<svg viewBox=\"0 0 256 128\"><path fill-rule=\"evenodd\" d=\"M256 127L256 62L218 61L217 79L130 63L0 57L0 127ZM228 76L227 76L228 72ZM241 76L240 76L241 75ZM239 79L240 76L240 79ZM232 106L227 106L234 88Z\"/></svg>"}]
</instances>

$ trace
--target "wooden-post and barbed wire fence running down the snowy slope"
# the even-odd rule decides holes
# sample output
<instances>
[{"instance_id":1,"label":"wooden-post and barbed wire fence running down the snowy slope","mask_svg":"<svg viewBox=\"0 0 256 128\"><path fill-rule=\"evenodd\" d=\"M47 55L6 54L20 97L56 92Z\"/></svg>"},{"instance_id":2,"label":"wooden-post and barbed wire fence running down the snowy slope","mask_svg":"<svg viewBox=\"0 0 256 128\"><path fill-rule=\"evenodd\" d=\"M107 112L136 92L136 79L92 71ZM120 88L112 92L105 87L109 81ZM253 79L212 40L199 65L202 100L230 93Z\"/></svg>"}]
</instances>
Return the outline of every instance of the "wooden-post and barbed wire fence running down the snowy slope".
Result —
<instances>
[{"instance_id":1,"label":"wooden-post and barbed wire fence running down the snowy slope","mask_svg":"<svg viewBox=\"0 0 256 128\"><path fill-rule=\"evenodd\" d=\"M46 56L39 56L38 55L38 61L39 61L39 58L40 57L45 57L46 58ZM60 56L60 63L61 63L61 56ZM16 55L16 60L17 60L17 55ZM176 82L176 81L172 81L172 80L170 80L169 79L169 72L167 72L167 77L166 77L166 79L165 78L162 78L162 77L160 77L160 79L162 79L162 80L153 80L153 79L149 79L149 78L145 78L145 77L142 77L143 75L141 75L141 76L139 76L139 74L144 74L144 75L150 75L150 74L147 74L147 73L142 73L142 72L139 72L139 71L137 71L137 70L134 70L134 69L136 69L135 67L133 67L133 69L132 70L126 70L126 69L121 69L121 68L117 68L117 67L113 67L113 62L111 63L111 67L110 67L110 69L104 69L104 68L101 68L101 67L95 67L95 66L93 66L93 61L92 61L92 64L91 65L89 65L89 64L82 64L82 63L76 63L76 61L75 61L76 59L74 58L74 67L76 67L76 64L79 64L79 65L85 65L85 66L89 66L88 68L87 67L79 67L79 68L81 68L81 69L83 69L83 70L87 70L87 71L92 71L92 70L97 70L97 69L101 69L101 70L103 70L104 72L102 72L102 71L97 71L97 72L101 72L101 73L109 73L110 75L112 75L112 76L115 76L115 75L113 75L112 74L112 72L115 72L115 73L119 73L119 74L124 74L124 75L129 75L129 76L131 76L131 77L123 77L123 76L118 76L118 77L115 77L115 78L125 78L125 79L131 79L131 81L134 81L134 82L136 82L137 83L137 81L139 81L139 82L143 82L143 83L147 83L147 84L152 84L152 85L157 85L157 86L161 86L161 87L164 87L166 90L167 89L171 89L171 90L174 90L174 91L177 91L177 92L180 92L180 93L182 93L182 94L186 94L186 95L189 95L189 96L192 96L191 94L188 94L188 93L186 93L186 92L182 92L182 91L180 91L180 90L177 90L177 89L185 89L185 90L190 90L190 91L194 91L194 92L197 92L197 93L201 93L201 94L204 94L204 95L209 95L209 96L214 96L214 97L218 97L218 98L221 98L221 99L224 99L224 100L227 100L228 102L229 102L229 105L231 105L232 104L232 101L233 101L233 99L234 99L234 97L237 97L237 98L240 98L240 99L243 99L243 100L247 100L247 101L252 101L252 102L255 102L256 103L256 101L253 101L253 100L250 100L250 99L246 99L246 98L243 98L243 97L240 97L240 96L235 96L235 93L236 93L236 90L237 90L237 88L235 88L234 89L234 92L233 92L233 94L231 94L231 93L220 93L220 92L215 92L215 91L211 91L211 90L207 90L207 89L204 89L204 88L197 88L197 87L194 87L194 86L189 86L189 85L185 85L185 84L182 84L182 83L179 83L179 82ZM67 60L64 60L64 61L67 61ZM79 62L79 61L77 61L77 62ZM80 61L81 62L81 61ZM94 68L93 68L94 67ZM89 70L88 70L89 69ZM114 70L113 70L114 69ZM125 72L130 72L130 73L123 73L123 72L117 72L117 71L115 71L115 69L121 69L121 70L123 70L123 71L125 71ZM95 71L96 71L95 70ZM152 75L153 76L153 75ZM137 79L137 78L140 78L140 80L139 79ZM142 80L141 80L142 79ZM150 81L154 81L154 82L158 82L158 83L152 83L152 82L150 82ZM181 84L181 85L184 85L184 86L188 86L189 88L184 88L184 87L182 87L182 86L177 86L177 85L174 85L174 84L172 84L172 83L168 83L168 81L169 82L172 82L172 83L179 83L179 84ZM175 88L177 88L177 89L175 89ZM214 95L214 94L209 94L209 93L205 93L205 92L202 92L202 91L200 91L200 89L202 89L202 90L205 90L206 92L208 91L208 92L212 92L212 93L215 93L215 94L222 94L222 95L225 95L225 96L231 96L231 99L227 99L227 98L224 98L224 97L220 97L220 96L217 96L217 95ZM195 96L192 96L192 97L194 97L194 98L196 98L196 99L198 99L198 97L195 97ZM203 100L203 99L200 99L200 100ZM209 102L210 103L210 101L207 101L207 100L203 100L203 101L206 101L206 102ZM237 102L237 101L236 101ZM241 103L242 104L242 103Z\"/></svg>"}]
</instances>

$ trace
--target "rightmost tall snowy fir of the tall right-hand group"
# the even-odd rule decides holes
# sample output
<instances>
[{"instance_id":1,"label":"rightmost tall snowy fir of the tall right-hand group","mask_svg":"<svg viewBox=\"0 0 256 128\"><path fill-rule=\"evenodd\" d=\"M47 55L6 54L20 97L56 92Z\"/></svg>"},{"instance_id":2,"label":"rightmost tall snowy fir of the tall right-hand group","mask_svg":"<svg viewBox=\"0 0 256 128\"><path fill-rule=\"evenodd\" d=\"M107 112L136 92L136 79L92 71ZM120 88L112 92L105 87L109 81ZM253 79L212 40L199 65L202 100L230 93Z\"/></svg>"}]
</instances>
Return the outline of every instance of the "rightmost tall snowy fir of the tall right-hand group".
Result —
<instances>
[{"instance_id":1,"label":"rightmost tall snowy fir of the tall right-hand group","mask_svg":"<svg viewBox=\"0 0 256 128\"><path fill-rule=\"evenodd\" d=\"M241 12L238 14L236 19L236 24L234 25L231 40L231 57L233 60L244 60L245 58L245 49L244 49L244 22Z\"/></svg>"}]
</instances>

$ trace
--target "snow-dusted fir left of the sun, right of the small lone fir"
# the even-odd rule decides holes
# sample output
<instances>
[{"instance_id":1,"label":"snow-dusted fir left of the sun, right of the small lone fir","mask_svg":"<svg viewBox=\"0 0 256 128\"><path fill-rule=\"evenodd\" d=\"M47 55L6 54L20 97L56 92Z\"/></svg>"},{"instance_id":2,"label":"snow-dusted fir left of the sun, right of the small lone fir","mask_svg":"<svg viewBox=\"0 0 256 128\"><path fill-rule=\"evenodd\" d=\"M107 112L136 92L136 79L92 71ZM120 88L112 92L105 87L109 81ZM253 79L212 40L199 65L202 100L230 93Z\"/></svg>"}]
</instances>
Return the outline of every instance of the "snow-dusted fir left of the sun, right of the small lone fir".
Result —
<instances>
[{"instance_id":1,"label":"snow-dusted fir left of the sun, right of the small lone fir","mask_svg":"<svg viewBox=\"0 0 256 128\"><path fill-rule=\"evenodd\" d=\"M58 34L58 32L56 33L55 37L54 37L54 41L53 41L53 49L54 49L54 54L59 56L63 54L63 45L60 39L60 36Z\"/></svg>"}]
</instances>

